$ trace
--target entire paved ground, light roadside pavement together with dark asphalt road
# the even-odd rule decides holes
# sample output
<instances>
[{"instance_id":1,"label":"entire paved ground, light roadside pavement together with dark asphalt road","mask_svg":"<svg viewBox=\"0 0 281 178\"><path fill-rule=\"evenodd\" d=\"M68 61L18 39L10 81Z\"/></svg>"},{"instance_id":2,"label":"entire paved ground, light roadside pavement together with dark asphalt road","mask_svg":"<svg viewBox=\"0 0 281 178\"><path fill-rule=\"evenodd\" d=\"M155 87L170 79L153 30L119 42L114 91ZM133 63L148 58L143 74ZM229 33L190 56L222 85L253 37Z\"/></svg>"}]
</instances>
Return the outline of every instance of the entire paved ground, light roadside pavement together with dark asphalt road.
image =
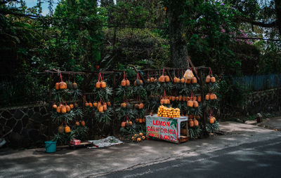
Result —
<instances>
[{"instance_id":1,"label":"entire paved ground, light roadside pavement together with dark asphalt road","mask_svg":"<svg viewBox=\"0 0 281 178\"><path fill-rule=\"evenodd\" d=\"M64 149L48 154L45 149L0 149L0 178L98 177L107 173L115 173L107 177L209 178L238 174L240 178L245 172L257 174L256 177L263 176L263 172L264 177L281 177L275 176L278 165L281 170L281 132L243 123L220 124L226 135L183 144L148 140L105 149ZM172 161L175 158L179 160ZM155 165L143 167L148 164Z\"/></svg>"}]
</instances>

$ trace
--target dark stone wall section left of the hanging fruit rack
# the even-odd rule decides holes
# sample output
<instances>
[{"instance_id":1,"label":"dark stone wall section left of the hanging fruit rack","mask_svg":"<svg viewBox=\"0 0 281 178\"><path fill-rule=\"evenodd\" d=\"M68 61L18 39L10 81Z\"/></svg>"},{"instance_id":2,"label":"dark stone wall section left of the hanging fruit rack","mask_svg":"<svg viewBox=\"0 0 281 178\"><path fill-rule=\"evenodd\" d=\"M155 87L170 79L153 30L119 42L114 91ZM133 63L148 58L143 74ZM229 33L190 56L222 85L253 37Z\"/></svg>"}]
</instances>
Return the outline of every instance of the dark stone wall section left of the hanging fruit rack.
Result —
<instances>
[{"instance_id":1,"label":"dark stone wall section left of the hanging fruit rack","mask_svg":"<svg viewBox=\"0 0 281 178\"><path fill-rule=\"evenodd\" d=\"M50 124L48 104L0 110L0 137L6 135L6 144L11 147L43 145L49 135Z\"/></svg>"}]
</instances>

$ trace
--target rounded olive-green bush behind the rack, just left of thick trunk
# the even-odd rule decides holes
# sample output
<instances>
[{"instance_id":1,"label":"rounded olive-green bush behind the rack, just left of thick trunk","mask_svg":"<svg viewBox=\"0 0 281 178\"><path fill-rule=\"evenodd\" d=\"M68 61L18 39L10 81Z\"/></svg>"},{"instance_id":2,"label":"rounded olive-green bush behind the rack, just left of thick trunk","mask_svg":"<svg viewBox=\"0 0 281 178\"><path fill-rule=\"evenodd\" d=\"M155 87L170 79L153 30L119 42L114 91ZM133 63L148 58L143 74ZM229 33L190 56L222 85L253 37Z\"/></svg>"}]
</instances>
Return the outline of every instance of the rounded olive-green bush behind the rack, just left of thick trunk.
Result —
<instances>
[{"instance_id":1,"label":"rounded olive-green bush behind the rack, just left of thick trunk","mask_svg":"<svg viewBox=\"0 0 281 178\"><path fill-rule=\"evenodd\" d=\"M124 70L128 68L128 64L133 64L138 69L160 68L169 64L169 41L149 29L124 28L115 32L105 28L103 32L107 40L116 37L115 44L106 44L107 55L102 60L105 69ZM126 73L130 76L131 72Z\"/></svg>"}]
</instances>

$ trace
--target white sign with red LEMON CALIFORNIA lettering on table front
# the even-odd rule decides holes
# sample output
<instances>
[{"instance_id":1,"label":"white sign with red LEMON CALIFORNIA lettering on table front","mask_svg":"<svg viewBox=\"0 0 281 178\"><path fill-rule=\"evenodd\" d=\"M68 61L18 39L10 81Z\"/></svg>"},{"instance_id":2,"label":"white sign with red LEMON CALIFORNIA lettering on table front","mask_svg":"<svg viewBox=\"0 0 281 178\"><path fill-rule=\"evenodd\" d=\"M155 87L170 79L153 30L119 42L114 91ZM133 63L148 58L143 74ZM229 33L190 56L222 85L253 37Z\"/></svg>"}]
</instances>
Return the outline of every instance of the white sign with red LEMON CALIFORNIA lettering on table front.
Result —
<instances>
[{"instance_id":1,"label":"white sign with red LEMON CALIFORNIA lettering on table front","mask_svg":"<svg viewBox=\"0 0 281 178\"><path fill-rule=\"evenodd\" d=\"M169 142L178 143L177 120L175 118L163 118L154 116L145 116L146 135L156 137Z\"/></svg>"}]
</instances>

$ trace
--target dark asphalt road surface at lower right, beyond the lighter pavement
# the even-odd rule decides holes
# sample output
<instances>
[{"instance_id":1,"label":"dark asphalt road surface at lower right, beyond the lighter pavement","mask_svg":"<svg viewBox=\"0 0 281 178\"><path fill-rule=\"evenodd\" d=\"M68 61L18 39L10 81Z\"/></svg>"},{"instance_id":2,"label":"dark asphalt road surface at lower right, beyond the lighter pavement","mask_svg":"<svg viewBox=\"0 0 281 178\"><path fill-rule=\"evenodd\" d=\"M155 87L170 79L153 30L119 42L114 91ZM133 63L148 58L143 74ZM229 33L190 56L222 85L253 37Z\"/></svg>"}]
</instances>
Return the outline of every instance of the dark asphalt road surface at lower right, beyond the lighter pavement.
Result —
<instances>
[{"instance_id":1,"label":"dark asphalt road surface at lower right, beyond the lighter pavement","mask_svg":"<svg viewBox=\"0 0 281 178\"><path fill-rule=\"evenodd\" d=\"M281 177L281 137L103 177Z\"/></svg>"}]
</instances>

